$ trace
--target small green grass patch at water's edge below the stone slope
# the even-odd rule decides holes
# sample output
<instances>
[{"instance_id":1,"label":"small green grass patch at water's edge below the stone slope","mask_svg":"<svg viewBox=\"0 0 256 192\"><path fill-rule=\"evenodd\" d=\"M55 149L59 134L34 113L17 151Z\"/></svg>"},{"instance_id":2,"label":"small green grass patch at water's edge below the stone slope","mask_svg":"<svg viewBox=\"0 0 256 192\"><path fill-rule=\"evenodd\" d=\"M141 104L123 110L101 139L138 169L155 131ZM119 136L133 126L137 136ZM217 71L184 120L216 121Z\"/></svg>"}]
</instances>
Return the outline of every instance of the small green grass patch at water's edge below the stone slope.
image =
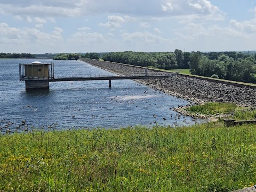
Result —
<instances>
[{"instance_id":1,"label":"small green grass patch at water's edge below the stone slope","mask_svg":"<svg viewBox=\"0 0 256 192\"><path fill-rule=\"evenodd\" d=\"M201 114L227 114L231 111L235 111L236 104L235 103L218 103L218 102L209 102L204 105L199 106L191 106L189 110L193 113L201 113Z\"/></svg>"}]
</instances>

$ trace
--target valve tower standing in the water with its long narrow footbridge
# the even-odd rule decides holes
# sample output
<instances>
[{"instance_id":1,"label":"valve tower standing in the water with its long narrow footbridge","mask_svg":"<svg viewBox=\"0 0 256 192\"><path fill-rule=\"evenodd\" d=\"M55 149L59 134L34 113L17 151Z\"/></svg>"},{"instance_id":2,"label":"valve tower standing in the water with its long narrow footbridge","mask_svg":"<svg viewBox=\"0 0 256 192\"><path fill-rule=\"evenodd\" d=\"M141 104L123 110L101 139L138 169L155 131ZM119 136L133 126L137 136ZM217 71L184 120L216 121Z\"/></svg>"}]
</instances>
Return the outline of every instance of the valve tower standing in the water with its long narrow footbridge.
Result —
<instances>
[{"instance_id":1,"label":"valve tower standing in the water with its long narrow footbridge","mask_svg":"<svg viewBox=\"0 0 256 192\"><path fill-rule=\"evenodd\" d=\"M84 75L58 75L54 76L53 63L33 62L31 64L19 64L20 81L25 81L27 89L49 89L49 82L61 81L109 81L111 87L111 80L117 79L153 79L153 78L167 78L172 76L172 73L166 72L148 72L145 68L145 73L126 73L123 75L115 74L84 74Z\"/></svg>"}]
</instances>

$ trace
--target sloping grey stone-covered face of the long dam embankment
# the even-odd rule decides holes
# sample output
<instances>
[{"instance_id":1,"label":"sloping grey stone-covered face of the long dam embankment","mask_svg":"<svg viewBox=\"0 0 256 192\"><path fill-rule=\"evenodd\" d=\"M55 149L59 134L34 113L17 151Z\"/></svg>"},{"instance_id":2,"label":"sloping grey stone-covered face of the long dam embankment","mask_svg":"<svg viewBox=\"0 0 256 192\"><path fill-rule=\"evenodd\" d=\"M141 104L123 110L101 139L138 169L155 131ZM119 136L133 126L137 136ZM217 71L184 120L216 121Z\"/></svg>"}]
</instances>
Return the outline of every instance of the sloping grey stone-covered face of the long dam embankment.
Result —
<instances>
[{"instance_id":1,"label":"sloping grey stone-covered face of the long dam embankment","mask_svg":"<svg viewBox=\"0 0 256 192\"><path fill-rule=\"evenodd\" d=\"M116 74L145 72L144 68L129 65L121 65L118 63L85 58L82 60L95 67L99 67ZM256 89L214 83L181 76L179 74L174 74L172 77L165 79L142 79L139 82L173 96L192 101L196 104L217 101L235 102L239 106L256 107Z\"/></svg>"}]
</instances>

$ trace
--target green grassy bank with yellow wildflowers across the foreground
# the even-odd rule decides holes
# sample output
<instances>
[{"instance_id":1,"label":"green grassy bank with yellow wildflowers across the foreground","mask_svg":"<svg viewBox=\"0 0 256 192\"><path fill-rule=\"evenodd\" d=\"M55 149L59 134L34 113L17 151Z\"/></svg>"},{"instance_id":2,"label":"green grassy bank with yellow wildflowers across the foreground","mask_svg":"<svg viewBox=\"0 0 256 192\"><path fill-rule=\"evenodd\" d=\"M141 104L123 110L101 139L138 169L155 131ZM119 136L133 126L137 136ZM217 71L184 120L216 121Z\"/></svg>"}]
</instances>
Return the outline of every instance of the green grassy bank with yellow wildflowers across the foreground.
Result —
<instances>
[{"instance_id":1,"label":"green grassy bank with yellow wildflowers across the foreground","mask_svg":"<svg viewBox=\"0 0 256 192\"><path fill-rule=\"evenodd\" d=\"M231 191L256 182L256 126L0 136L1 191Z\"/></svg>"}]
</instances>

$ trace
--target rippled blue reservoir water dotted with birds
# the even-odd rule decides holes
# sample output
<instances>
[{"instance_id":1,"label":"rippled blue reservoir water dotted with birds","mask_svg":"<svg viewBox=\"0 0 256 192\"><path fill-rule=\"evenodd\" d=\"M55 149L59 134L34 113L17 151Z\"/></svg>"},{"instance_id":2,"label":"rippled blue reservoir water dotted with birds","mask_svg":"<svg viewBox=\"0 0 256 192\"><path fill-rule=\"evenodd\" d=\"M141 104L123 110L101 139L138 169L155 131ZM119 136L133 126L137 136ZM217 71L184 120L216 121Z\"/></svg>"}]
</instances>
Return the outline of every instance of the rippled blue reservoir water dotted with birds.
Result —
<instances>
[{"instance_id":1,"label":"rippled blue reservoir water dotted with birds","mask_svg":"<svg viewBox=\"0 0 256 192\"><path fill-rule=\"evenodd\" d=\"M191 125L203 119L178 116L173 107L188 101L132 80L50 82L49 90L26 91L19 82L19 63L54 62L55 77L111 74L83 61L44 59L0 60L0 130L62 130L134 125ZM164 119L166 118L166 120Z\"/></svg>"}]
</instances>

